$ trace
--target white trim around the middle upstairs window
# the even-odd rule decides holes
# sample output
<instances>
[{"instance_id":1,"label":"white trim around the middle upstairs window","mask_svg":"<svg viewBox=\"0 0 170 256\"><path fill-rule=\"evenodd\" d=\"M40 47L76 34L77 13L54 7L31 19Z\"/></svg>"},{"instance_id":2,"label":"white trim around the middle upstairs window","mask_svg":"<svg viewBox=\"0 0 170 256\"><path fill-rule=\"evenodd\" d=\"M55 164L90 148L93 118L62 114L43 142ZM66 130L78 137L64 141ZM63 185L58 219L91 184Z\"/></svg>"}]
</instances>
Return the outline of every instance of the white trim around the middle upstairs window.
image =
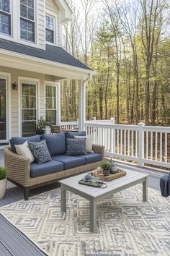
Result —
<instances>
[{"instance_id":1,"label":"white trim around the middle upstairs window","mask_svg":"<svg viewBox=\"0 0 170 256\"><path fill-rule=\"evenodd\" d=\"M37 33L37 27L38 27L38 25L37 25L37 22L38 22L38 19L37 19L38 12L37 12L37 10L38 10L38 5L37 4L38 4L37 1L34 0L34 20L29 20L29 19L25 18L25 20L30 21L30 22L34 22L34 24L35 24L35 42L31 42L31 41L24 40L24 39L21 38L20 20L21 20L22 16L21 16L21 9L20 9L21 3L20 3L20 0L19 0L19 7L18 7L18 9L19 9L18 40L19 40L20 43L22 42L23 44L26 44L27 46L37 46L37 42L38 42L38 38L37 38L37 35L38 35L38 33Z\"/></svg>"}]
</instances>

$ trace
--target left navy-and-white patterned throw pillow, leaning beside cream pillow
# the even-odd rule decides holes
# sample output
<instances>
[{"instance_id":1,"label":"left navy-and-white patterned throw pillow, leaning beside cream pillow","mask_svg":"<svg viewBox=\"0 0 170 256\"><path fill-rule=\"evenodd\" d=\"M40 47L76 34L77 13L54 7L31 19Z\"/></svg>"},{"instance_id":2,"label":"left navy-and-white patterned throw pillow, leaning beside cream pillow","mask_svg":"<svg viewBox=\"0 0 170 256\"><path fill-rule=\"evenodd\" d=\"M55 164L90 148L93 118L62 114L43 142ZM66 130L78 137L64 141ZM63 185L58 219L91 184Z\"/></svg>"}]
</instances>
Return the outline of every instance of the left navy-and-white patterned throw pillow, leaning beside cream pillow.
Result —
<instances>
[{"instance_id":1,"label":"left navy-and-white patterned throw pillow, leaning beside cream pillow","mask_svg":"<svg viewBox=\"0 0 170 256\"><path fill-rule=\"evenodd\" d=\"M46 163L52 161L45 140L41 142L28 142L28 146L37 163Z\"/></svg>"}]
</instances>

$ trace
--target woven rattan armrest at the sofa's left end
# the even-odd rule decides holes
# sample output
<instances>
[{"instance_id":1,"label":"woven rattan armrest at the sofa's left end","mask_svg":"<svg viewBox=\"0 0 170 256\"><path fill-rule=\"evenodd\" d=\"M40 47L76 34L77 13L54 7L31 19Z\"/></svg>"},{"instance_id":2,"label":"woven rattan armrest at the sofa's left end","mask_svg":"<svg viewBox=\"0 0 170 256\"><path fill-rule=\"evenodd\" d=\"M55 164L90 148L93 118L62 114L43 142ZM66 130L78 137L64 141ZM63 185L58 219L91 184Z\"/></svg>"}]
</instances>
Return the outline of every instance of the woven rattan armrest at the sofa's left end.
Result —
<instances>
[{"instance_id":1,"label":"woven rattan armrest at the sofa's left end","mask_svg":"<svg viewBox=\"0 0 170 256\"><path fill-rule=\"evenodd\" d=\"M27 187L30 179L30 160L13 153L10 148L5 148L4 162L8 170L7 177Z\"/></svg>"}]
</instances>

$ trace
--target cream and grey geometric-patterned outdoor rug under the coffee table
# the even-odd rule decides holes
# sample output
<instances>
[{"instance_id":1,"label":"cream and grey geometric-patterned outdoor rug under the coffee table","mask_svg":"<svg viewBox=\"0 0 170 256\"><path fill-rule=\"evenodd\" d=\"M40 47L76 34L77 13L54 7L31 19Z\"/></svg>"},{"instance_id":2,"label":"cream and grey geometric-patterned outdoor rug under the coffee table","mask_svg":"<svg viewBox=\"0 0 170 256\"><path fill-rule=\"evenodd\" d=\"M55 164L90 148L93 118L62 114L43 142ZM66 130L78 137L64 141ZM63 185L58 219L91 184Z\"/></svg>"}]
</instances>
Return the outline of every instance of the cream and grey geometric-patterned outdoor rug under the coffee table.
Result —
<instances>
[{"instance_id":1,"label":"cream and grey geometric-patterned outdoor rug under the coffee table","mask_svg":"<svg viewBox=\"0 0 170 256\"><path fill-rule=\"evenodd\" d=\"M137 185L101 200L98 233L89 232L89 202L68 193L66 216L61 190L0 208L0 213L50 256L170 255L170 198Z\"/></svg>"}]
</instances>

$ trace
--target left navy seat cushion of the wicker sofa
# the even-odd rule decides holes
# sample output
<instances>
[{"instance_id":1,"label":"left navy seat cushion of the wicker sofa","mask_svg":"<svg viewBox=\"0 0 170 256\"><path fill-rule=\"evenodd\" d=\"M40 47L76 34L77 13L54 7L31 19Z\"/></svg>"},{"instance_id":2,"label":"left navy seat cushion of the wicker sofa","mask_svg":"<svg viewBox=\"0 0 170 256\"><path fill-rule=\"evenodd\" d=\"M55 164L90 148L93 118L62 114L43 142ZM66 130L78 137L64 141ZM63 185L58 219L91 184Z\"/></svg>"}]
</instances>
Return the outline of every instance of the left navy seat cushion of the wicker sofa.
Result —
<instances>
[{"instance_id":1,"label":"left navy seat cushion of the wicker sofa","mask_svg":"<svg viewBox=\"0 0 170 256\"><path fill-rule=\"evenodd\" d=\"M47 163L31 163L30 165L30 176L35 178L46 174L53 174L58 171L63 171L63 163L57 161L50 161Z\"/></svg>"}]
</instances>

